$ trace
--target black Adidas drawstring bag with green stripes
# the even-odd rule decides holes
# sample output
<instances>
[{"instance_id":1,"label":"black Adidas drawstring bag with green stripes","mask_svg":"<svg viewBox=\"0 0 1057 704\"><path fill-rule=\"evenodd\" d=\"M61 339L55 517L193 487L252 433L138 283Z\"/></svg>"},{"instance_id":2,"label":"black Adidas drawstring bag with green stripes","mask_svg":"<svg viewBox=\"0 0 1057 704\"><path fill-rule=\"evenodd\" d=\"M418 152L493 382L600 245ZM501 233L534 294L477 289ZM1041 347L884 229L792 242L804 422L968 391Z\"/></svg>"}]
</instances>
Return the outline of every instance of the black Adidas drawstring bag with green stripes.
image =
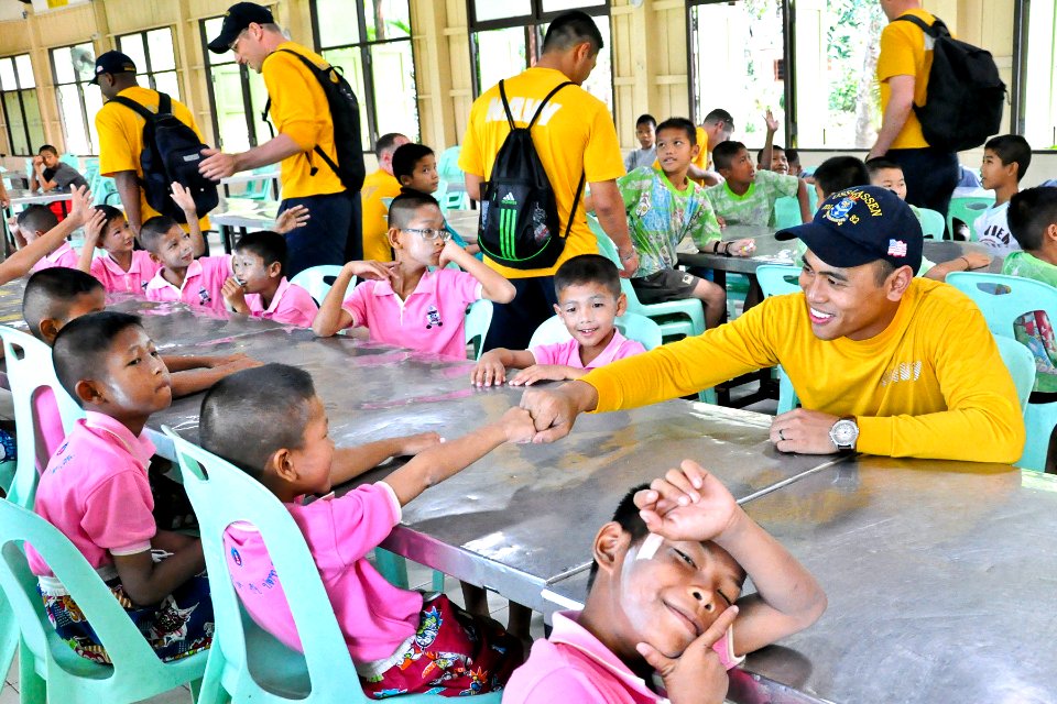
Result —
<instances>
[{"instance_id":1,"label":"black Adidas drawstring bag with green stripes","mask_svg":"<svg viewBox=\"0 0 1057 704\"><path fill-rule=\"evenodd\" d=\"M514 125L514 118L510 113L503 81L499 81L499 95L506 111L510 134L495 154L491 179L481 184L478 244L484 254L503 266L547 268L554 266L565 249L565 240L569 237L573 217L584 191L584 176L580 176L580 184L576 187L576 197L563 235L554 188L532 143L532 127L551 98L571 85L573 81L565 81L548 92L528 121L528 127L519 128Z\"/></svg>"}]
</instances>

